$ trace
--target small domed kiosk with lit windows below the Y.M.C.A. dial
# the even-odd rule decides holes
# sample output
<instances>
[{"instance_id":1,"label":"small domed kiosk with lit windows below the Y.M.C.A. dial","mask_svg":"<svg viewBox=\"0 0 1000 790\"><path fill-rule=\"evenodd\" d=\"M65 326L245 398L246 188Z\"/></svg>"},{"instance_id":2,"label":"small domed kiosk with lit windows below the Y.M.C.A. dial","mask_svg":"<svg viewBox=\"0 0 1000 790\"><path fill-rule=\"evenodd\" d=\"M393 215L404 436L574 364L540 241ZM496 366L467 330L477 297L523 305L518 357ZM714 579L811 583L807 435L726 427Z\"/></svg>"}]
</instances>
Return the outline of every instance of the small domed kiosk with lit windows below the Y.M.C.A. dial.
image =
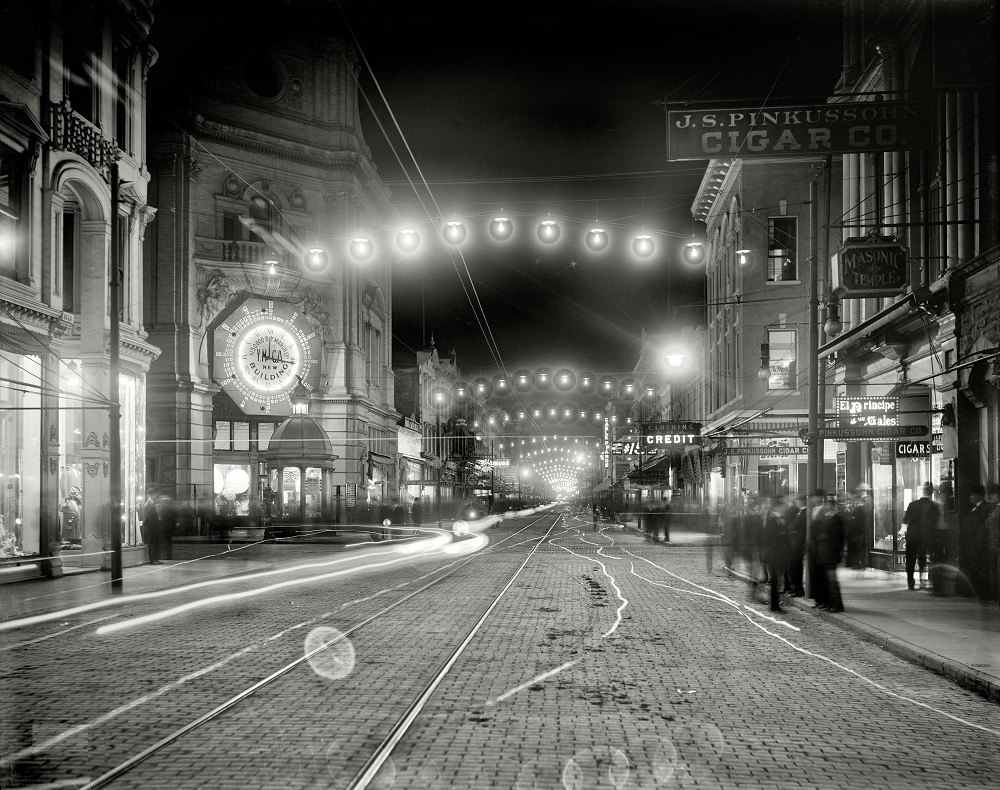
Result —
<instances>
[{"instance_id":1,"label":"small domed kiosk with lit windows below the Y.M.C.A. dial","mask_svg":"<svg viewBox=\"0 0 1000 790\"><path fill-rule=\"evenodd\" d=\"M333 445L310 417L308 393L301 384L292 393L292 415L281 423L262 453L267 466L264 522L291 528L331 520Z\"/></svg>"}]
</instances>

